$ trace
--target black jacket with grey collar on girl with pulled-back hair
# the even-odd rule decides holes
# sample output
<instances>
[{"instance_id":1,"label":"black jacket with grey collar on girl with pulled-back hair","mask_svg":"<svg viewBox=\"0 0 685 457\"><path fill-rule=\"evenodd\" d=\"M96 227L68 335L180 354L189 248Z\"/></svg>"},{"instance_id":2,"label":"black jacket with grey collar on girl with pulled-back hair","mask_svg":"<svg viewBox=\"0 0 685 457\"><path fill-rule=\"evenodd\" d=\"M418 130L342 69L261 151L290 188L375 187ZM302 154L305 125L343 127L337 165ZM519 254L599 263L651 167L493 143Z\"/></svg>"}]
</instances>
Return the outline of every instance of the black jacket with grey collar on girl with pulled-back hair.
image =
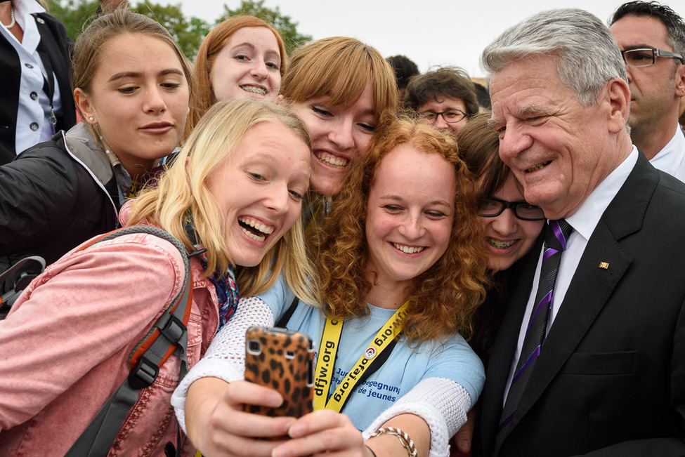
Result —
<instances>
[{"instance_id":1,"label":"black jacket with grey collar on girl with pulled-back hair","mask_svg":"<svg viewBox=\"0 0 685 457\"><path fill-rule=\"evenodd\" d=\"M59 132L0 166L0 271L8 257L38 255L53 263L115 229L118 211L112 168L88 127Z\"/></svg>"}]
</instances>

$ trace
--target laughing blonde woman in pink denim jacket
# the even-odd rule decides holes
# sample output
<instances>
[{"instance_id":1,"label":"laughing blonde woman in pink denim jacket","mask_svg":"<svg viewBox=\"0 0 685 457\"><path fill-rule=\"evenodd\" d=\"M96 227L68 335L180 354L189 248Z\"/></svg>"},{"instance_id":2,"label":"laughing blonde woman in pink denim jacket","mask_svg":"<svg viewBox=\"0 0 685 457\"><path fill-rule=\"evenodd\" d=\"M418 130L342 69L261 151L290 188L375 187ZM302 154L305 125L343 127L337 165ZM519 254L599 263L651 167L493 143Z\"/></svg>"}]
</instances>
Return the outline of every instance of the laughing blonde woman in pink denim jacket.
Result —
<instances>
[{"instance_id":1,"label":"laughing blonde woman in pink denim jacket","mask_svg":"<svg viewBox=\"0 0 685 457\"><path fill-rule=\"evenodd\" d=\"M306 296L311 276L299 216L310 140L292 112L251 100L212 107L122 225L162 228L188 251L193 303L188 364L204 355L240 293L279 275ZM64 455L129 374L131 350L181 289L181 253L150 234L74 250L49 266L0 321L0 454ZM180 361L141 391L112 451L159 456L176 443L170 405ZM187 442L182 454L192 455Z\"/></svg>"}]
</instances>

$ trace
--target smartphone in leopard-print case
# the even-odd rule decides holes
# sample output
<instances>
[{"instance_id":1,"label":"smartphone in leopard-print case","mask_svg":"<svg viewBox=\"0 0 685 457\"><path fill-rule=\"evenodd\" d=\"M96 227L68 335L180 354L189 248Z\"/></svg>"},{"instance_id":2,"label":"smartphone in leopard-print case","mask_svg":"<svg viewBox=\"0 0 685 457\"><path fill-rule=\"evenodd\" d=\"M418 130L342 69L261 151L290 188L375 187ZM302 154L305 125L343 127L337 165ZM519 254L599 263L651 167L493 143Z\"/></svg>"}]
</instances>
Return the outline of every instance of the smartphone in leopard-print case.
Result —
<instances>
[{"instance_id":1,"label":"smartphone in leopard-print case","mask_svg":"<svg viewBox=\"0 0 685 457\"><path fill-rule=\"evenodd\" d=\"M278 408L245 405L264 416L299 418L313 411L314 346L306 333L278 327L250 327L245 333L245 380L278 390Z\"/></svg>"}]
</instances>

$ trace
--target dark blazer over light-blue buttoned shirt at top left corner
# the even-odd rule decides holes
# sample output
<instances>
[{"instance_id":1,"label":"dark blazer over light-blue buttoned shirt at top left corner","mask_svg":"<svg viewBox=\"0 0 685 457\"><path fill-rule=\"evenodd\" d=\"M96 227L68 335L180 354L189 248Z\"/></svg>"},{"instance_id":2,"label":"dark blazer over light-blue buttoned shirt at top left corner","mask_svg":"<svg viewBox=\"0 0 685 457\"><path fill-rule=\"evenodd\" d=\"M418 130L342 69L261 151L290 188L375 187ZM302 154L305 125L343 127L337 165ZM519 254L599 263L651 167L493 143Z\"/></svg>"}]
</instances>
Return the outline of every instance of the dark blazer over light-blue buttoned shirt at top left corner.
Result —
<instances>
[{"instance_id":1,"label":"dark blazer over light-blue buttoned shirt at top left corner","mask_svg":"<svg viewBox=\"0 0 685 457\"><path fill-rule=\"evenodd\" d=\"M49 60L57 77L62 100L62 116L58 117L55 131L69 130L76 124L74 97L69 83L69 69L72 42L62 22L46 13L33 15L41 35L38 53L44 65ZM12 161L21 151L15 151L17 131L17 111L19 109L19 85L21 64L19 56L11 43L0 38L0 165Z\"/></svg>"}]
</instances>

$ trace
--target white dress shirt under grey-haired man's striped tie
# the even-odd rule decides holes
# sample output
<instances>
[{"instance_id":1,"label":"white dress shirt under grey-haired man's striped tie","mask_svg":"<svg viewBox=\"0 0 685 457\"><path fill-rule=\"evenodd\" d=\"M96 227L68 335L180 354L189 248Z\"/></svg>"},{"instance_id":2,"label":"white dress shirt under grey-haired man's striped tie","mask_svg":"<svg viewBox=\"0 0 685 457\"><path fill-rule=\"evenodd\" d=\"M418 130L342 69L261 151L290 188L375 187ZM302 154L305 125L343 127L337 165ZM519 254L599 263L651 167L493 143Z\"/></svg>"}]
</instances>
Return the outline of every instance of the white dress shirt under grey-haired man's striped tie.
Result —
<instances>
[{"instance_id":1,"label":"white dress shirt under grey-haired man's striped tie","mask_svg":"<svg viewBox=\"0 0 685 457\"><path fill-rule=\"evenodd\" d=\"M575 274L576 268L580 263L582 253L585 251L587 241L592 236L595 227L599 223L602 214L606 208L611 204L618 190L620 190L628 175L637 164L637 157L639 151L637 147L633 146L629 156L626 157L622 163L614 169L599 185L590 193L585 201L583 201L578 211L575 211L572 216L566 218L566 222L573 227L573 232L568 237L566 243L566 250L563 251L561 262L559 263L559 272L556 274L556 282L554 283L554 301L552 303L552 312L549 314L549 322L547 323L547 333L552 329L554 318L559 312L559 308L563 303L563 298L566 296L568 286ZM507 401L509 394L509 386L511 379L514 377L516 370L516 362L518 356L521 354L521 347L523 347L523 338L526 336L526 328L528 326L528 319L533 312L535 305L535 294L537 293L537 284L540 282L540 265L542 265L542 252L537 259L537 270L535 271L535 278L533 278L533 288L530 290L528 297L528 305L526 305L526 312L523 314L523 322L521 322L521 330L518 333L518 343L516 345L516 352L514 352L514 359L511 361L511 369L509 370L509 378L507 380L507 388L504 392L504 402ZM544 345L542 346L544 352Z\"/></svg>"}]
</instances>

